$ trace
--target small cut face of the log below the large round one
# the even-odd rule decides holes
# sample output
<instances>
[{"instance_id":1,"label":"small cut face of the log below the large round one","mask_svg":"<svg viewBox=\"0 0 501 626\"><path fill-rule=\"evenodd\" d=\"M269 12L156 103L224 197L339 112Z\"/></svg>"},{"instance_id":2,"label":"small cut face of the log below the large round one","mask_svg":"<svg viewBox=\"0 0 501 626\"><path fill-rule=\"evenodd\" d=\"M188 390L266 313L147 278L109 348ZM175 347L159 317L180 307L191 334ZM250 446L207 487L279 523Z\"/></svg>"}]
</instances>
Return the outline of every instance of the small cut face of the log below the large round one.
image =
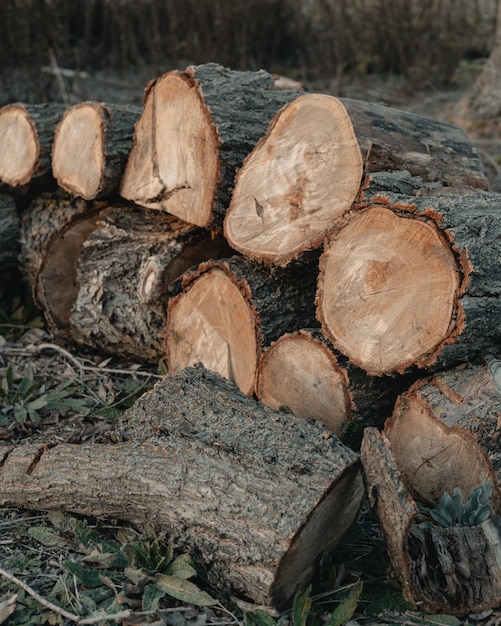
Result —
<instances>
[{"instance_id":1,"label":"small cut face of the log below the large round one","mask_svg":"<svg viewBox=\"0 0 501 626\"><path fill-rule=\"evenodd\" d=\"M316 419L340 435L350 418L344 370L333 353L308 335L284 335L264 353L256 394L274 409L288 406L297 417Z\"/></svg>"}]
</instances>

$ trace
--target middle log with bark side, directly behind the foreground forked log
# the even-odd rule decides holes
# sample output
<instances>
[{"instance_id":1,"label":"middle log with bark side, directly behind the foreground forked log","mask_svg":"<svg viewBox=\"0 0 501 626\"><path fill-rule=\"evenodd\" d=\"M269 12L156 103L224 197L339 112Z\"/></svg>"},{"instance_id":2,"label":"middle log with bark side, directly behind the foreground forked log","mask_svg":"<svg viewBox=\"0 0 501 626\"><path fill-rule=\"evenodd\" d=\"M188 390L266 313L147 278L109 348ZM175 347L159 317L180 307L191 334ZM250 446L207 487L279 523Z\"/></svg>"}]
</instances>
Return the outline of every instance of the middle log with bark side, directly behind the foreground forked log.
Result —
<instances>
[{"instance_id":1,"label":"middle log with bark side, directly behind the foreground forked log","mask_svg":"<svg viewBox=\"0 0 501 626\"><path fill-rule=\"evenodd\" d=\"M313 255L285 269L245 257L202 264L168 305L169 372L201 361L252 394L263 347L316 323L317 268Z\"/></svg>"}]
</instances>

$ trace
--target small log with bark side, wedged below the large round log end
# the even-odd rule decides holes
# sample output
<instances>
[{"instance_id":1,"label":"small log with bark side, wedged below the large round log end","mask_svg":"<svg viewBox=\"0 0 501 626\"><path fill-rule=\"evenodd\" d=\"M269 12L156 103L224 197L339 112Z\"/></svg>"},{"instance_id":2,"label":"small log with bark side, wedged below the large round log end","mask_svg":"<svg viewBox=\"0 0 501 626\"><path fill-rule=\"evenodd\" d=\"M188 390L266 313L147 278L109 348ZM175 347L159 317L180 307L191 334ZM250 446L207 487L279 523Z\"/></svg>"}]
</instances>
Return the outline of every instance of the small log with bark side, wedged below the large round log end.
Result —
<instances>
[{"instance_id":1,"label":"small log with bark side, wedged below the large round log end","mask_svg":"<svg viewBox=\"0 0 501 626\"><path fill-rule=\"evenodd\" d=\"M318 330L282 335L265 350L256 374L256 395L273 408L316 419L359 446L366 426L382 426L409 387L408 376L368 376L336 354Z\"/></svg>"}]
</instances>

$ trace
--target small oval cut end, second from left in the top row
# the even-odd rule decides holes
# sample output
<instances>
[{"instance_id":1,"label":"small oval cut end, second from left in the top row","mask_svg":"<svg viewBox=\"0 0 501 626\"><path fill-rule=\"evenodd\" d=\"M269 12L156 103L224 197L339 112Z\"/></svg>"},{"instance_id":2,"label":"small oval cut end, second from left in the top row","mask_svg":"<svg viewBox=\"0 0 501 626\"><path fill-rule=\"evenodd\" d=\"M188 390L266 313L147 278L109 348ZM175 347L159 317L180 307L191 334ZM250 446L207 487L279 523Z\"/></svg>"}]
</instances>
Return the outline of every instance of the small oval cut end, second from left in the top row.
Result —
<instances>
[{"instance_id":1,"label":"small oval cut end, second from left in the top row","mask_svg":"<svg viewBox=\"0 0 501 626\"><path fill-rule=\"evenodd\" d=\"M101 107L83 102L64 114L54 139L52 171L66 191L93 198L101 186L105 166Z\"/></svg>"}]
</instances>

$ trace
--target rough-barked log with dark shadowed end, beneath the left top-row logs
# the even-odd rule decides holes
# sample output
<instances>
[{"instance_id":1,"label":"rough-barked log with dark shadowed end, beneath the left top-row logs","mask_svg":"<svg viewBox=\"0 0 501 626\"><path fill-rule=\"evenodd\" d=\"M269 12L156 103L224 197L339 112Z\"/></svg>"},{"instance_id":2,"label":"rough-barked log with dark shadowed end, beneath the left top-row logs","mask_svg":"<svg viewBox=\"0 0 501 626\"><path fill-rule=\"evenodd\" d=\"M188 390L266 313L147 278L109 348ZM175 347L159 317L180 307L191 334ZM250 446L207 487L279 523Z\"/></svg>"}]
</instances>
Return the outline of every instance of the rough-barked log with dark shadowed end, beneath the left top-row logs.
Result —
<instances>
[{"instance_id":1,"label":"rough-barked log with dark shadowed end, beneath the left top-row logs","mask_svg":"<svg viewBox=\"0 0 501 626\"><path fill-rule=\"evenodd\" d=\"M169 285L226 255L226 242L156 211L50 198L26 218L22 257L52 330L98 351L158 361Z\"/></svg>"}]
</instances>

